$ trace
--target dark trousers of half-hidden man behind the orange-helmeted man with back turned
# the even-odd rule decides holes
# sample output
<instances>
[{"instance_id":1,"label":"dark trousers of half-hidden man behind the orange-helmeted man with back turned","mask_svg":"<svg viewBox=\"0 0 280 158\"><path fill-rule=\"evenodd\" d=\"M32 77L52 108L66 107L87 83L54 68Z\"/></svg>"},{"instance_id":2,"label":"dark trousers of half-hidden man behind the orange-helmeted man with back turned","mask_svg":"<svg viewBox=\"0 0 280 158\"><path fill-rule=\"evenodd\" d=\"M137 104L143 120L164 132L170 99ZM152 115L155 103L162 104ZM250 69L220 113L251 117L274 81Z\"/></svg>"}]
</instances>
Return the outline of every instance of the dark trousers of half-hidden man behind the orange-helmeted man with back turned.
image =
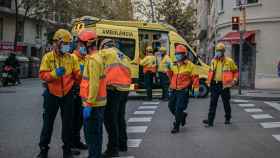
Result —
<instances>
[{"instance_id":1,"label":"dark trousers of half-hidden man behind the orange-helmeted man with back turned","mask_svg":"<svg viewBox=\"0 0 280 158\"><path fill-rule=\"evenodd\" d=\"M81 141L80 131L83 126L83 106L82 99L79 96L79 88L74 91L74 108L73 108L73 130L72 130L72 143L76 144Z\"/></svg>"}]
</instances>

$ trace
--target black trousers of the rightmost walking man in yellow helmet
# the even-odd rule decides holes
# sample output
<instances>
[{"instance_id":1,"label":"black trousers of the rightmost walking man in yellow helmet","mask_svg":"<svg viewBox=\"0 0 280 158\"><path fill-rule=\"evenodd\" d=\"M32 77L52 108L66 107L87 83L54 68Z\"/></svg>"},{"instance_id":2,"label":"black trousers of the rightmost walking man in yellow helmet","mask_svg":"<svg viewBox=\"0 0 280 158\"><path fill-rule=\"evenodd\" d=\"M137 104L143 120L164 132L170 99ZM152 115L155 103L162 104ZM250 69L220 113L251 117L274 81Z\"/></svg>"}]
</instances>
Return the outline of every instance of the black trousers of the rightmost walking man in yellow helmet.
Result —
<instances>
[{"instance_id":1,"label":"black trousers of the rightmost walking man in yellow helmet","mask_svg":"<svg viewBox=\"0 0 280 158\"><path fill-rule=\"evenodd\" d=\"M222 101L224 104L225 110L225 119L231 119L231 107L230 107L230 89L223 88L222 82L219 83L212 83L210 87L211 91L211 100L210 100L210 108L208 113L208 120L209 124L213 124L215 116L216 116L216 109L218 105L219 97L222 97Z\"/></svg>"}]
</instances>

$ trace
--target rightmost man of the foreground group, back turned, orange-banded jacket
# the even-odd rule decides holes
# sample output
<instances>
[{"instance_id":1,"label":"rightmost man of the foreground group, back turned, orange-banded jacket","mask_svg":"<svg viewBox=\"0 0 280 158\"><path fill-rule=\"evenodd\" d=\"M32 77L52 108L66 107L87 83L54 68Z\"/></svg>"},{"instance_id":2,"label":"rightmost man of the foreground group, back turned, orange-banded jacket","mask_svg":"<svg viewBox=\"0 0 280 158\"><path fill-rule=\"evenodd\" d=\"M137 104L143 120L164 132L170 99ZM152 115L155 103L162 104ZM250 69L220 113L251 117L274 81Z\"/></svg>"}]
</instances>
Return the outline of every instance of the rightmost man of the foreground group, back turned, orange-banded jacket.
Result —
<instances>
[{"instance_id":1,"label":"rightmost man of the foreground group, back turned, orange-banded jacket","mask_svg":"<svg viewBox=\"0 0 280 158\"><path fill-rule=\"evenodd\" d=\"M108 133L107 150L103 157L119 157L119 151L127 151L125 111L131 84L130 63L128 57L116 48L112 39L104 39L101 49L107 83L104 124Z\"/></svg>"}]
</instances>

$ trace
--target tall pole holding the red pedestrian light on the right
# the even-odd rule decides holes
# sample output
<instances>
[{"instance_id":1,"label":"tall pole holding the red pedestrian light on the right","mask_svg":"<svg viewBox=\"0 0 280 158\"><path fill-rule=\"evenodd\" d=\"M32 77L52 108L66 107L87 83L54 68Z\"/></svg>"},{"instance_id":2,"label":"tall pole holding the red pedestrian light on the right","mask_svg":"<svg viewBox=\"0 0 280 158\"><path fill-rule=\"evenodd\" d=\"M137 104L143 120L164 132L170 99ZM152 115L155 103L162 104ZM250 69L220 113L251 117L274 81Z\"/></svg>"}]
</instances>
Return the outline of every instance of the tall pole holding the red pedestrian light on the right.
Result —
<instances>
[{"instance_id":1,"label":"tall pole holding the red pedestrian light on the right","mask_svg":"<svg viewBox=\"0 0 280 158\"><path fill-rule=\"evenodd\" d=\"M240 50L239 50L239 88L238 88L238 94L242 94L242 56L243 56L243 44L244 44L244 38L243 35L246 31L246 7L244 4L240 4L240 11L242 14L242 26L240 27Z\"/></svg>"}]
</instances>

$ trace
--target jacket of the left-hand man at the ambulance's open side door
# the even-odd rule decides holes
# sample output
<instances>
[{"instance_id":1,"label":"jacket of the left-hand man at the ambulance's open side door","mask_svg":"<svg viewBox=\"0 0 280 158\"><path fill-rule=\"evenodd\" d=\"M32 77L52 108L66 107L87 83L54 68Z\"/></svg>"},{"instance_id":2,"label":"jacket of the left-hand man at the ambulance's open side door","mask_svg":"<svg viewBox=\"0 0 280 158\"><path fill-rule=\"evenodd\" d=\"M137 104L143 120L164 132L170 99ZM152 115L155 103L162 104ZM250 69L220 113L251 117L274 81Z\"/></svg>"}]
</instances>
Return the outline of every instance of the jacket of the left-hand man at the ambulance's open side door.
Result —
<instances>
[{"instance_id":1,"label":"jacket of the left-hand man at the ambulance's open side door","mask_svg":"<svg viewBox=\"0 0 280 158\"><path fill-rule=\"evenodd\" d=\"M156 65L156 57L154 55L147 55L141 61L140 65L144 67L144 74L147 72L156 73L157 65Z\"/></svg>"}]
</instances>

